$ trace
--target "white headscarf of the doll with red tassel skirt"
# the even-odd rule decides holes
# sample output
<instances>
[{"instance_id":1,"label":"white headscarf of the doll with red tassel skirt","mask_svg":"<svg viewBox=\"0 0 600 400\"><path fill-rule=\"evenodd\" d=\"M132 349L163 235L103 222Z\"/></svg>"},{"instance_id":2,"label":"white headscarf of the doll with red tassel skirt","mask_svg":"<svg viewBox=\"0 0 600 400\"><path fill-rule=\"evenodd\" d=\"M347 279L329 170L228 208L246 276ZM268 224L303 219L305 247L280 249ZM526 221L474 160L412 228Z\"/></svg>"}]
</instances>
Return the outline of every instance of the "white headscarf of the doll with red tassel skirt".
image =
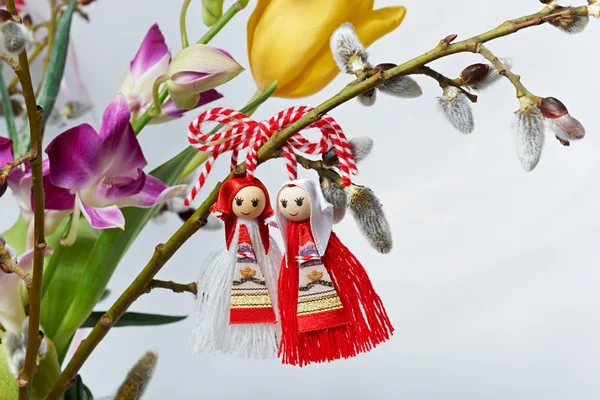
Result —
<instances>
[{"instance_id":1,"label":"white headscarf of the doll with red tassel skirt","mask_svg":"<svg viewBox=\"0 0 600 400\"><path fill-rule=\"evenodd\" d=\"M296 179L285 183L277 193L277 202L279 202L279 194L281 191L288 186L298 186L308 193L310 199L310 227L317 250L322 257L327 249L329 237L331 236L331 229L333 228L333 205L325 200L325 196L323 196L323 192L321 191L321 186L310 179ZM276 204L274 209L277 224L283 235L284 246L287 250L289 220L279 211L279 204Z\"/></svg>"}]
</instances>

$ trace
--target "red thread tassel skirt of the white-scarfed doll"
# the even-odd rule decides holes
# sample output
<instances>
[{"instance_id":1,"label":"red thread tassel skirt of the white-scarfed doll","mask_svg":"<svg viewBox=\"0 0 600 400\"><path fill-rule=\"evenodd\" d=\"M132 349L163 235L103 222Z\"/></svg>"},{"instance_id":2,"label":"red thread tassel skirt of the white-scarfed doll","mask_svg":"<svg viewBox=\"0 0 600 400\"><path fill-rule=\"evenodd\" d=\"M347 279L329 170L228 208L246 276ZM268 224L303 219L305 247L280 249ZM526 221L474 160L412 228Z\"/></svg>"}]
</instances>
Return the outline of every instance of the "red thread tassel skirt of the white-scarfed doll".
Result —
<instances>
[{"instance_id":1,"label":"red thread tassel skirt of the white-scarfed doll","mask_svg":"<svg viewBox=\"0 0 600 400\"><path fill-rule=\"evenodd\" d=\"M313 362L354 357L390 338L394 328L369 277L354 254L331 234L322 260L350 317L350 324L319 331L298 331L297 224L290 224L288 255L279 275L279 309L282 338L279 356L284 364L304 366ZM291 264L291 265L290 265Z\"/></svg>"}]
</instances>

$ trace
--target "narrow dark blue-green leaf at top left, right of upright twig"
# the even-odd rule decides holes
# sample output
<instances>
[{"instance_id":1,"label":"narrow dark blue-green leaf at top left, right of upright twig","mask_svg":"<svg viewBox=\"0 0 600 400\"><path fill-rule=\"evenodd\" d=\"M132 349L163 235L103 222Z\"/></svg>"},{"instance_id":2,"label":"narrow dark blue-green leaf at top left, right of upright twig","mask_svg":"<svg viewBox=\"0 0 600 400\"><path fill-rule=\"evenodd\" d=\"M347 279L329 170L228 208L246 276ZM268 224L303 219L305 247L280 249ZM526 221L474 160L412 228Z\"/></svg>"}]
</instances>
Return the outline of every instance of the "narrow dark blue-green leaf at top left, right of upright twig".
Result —
<instances>
[{"instance_id":1,"label":"narrow dark blue-green leaf at top left, right of upright twig","mask_svg":"<svg viewBox=\"0 0 600 400\"><path fill-rule=\"evenodd\" d=\"M58 96L60 83L65 72L65 64L69 50L69 36L71 34L71 21L73 20L73 12L75 11L76 5L77 0L72 0L56 27L54 44L52 45L50 61L48 62L48 71L37 98L38 104L44 109L42 129L54 109L56 96Z\"/></svg>"}]
</instances>

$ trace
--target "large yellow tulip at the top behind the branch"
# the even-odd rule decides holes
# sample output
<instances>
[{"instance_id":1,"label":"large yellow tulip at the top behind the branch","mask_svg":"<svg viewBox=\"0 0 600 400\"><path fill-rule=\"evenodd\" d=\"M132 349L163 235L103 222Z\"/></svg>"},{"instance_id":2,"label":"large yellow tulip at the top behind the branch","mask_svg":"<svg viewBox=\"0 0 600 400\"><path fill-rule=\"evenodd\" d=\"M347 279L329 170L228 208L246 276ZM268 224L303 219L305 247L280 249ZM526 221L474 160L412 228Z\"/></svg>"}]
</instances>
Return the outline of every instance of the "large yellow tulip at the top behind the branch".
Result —
<instances>
[{"instance_id":1,"label":"large yellow tulip at the top behind the branch","mask_svg":"<svg viewBox=\"0 0 600 400\"><path fill-rule=\"evenodd\" d=\"M373 10L373 0L258 0L248 21L248 56L259 89L278 82L275 96L305 97L339 73L329 37L345 22L365 46L393 31L404 7Z\"/></svg>"}]
</instances>

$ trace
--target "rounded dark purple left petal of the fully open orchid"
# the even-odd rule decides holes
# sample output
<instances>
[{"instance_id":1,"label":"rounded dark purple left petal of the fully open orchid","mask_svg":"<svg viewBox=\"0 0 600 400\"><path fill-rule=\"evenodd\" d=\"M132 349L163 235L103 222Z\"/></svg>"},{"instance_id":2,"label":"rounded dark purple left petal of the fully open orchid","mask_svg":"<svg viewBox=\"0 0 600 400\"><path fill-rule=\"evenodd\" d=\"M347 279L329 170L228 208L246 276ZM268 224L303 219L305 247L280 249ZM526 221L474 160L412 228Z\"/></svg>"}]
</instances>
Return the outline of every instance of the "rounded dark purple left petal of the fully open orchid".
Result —
<instances>
[{"instance_id":1,"label":"rounded dark purple left petal of the fully open orchid","mask_svg":"<svg viewBox=\"0 0 600 400\"><path fill-rule=\"evenodd\" d=\"M51 182L74 190L91 185L102 173L101 148L102 139L88 124L58 135L46 148Z\"/></svg>"}]
</instances>

